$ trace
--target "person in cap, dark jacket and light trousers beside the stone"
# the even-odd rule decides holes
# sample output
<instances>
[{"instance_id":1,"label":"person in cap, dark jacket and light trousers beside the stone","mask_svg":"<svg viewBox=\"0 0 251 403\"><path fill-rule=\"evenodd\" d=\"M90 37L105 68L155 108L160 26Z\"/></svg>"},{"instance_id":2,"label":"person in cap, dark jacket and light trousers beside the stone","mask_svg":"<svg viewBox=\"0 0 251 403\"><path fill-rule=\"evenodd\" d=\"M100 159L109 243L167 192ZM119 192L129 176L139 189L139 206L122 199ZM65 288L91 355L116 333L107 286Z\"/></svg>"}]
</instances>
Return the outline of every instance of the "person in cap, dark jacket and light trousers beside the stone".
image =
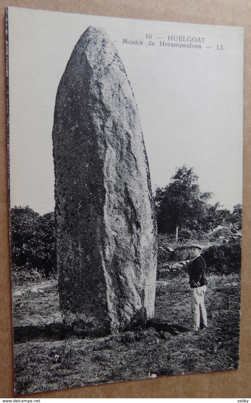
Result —
<instances>
[{"instance_id":1,"label":"person in cap, dark jacket and light trousers beside the stone","mask_svg":"<svg viewBox=\"0 0 251 403\"><path fill-rule=\"evenodd\" d=\"M200 314L204 325L207 327L206 308L204 306L204 293L206 292L206 263L200 252L202 247L198 244L189 247L192 260L188 263L191 310L192 310L192 331L198 332L200 328Z\"/></svg>"}]
</instances>

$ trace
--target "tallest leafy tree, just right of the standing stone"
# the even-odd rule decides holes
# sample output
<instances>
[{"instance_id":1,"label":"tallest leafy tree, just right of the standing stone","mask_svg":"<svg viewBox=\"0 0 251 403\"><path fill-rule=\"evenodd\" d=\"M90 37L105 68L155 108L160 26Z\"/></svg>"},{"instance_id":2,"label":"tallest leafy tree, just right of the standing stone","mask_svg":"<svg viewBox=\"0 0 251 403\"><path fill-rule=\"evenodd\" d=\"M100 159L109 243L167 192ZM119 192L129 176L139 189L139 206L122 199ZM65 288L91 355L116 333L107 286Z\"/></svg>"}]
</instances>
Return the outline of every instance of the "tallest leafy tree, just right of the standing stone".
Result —
<instances>
[{"instance_id":1,"label":"tallest leafy tree, just right of the standing stone","mask_svg":"<svg viewBox=\"0 0 251 403\"><path fill-rule=\"evenodd\" d=\"M158 232L175 234L178 240L179 230L197 235L212 230L222 218L217 210L219 203L214 206L208 203L211 197L212 193L200 191L193 168L186 165L178 168L165 188L156 189Z\"/></svg>"}]
</instances>

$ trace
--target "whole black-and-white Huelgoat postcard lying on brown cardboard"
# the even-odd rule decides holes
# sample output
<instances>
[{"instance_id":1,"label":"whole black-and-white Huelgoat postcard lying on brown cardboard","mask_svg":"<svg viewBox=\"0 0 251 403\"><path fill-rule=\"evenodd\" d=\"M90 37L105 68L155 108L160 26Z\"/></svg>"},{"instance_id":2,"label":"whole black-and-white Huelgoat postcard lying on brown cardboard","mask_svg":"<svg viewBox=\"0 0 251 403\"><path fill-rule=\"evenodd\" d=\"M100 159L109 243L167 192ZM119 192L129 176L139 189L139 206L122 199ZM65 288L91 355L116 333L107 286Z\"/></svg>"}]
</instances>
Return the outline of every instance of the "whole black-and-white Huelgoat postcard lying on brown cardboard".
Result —
<instances>
[{"instance_id":1,"label":"whole black-and-white Huelgoat postcard lying on brown cardboard","mask_svg":"<svg viewBox=\"0 0 251 403\"><path fill-rule=\"evenodd\" d=\"M14 393L237 370L243 28L8 7L6 81Z\"/></svg>"}]
</instances>

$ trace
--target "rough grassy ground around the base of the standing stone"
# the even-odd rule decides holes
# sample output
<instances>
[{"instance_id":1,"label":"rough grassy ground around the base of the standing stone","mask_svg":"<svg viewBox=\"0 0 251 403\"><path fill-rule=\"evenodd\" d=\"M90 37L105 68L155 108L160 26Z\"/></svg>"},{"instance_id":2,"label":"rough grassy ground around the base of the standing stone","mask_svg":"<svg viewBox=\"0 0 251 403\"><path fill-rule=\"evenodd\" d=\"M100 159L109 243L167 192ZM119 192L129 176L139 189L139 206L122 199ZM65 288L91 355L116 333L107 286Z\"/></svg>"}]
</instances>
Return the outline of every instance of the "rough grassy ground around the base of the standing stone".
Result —
<instances>
[{"instance_id":1,"label":"rough grassy ground around the base of the standing stone","mask_svg":"<svg viewBox=\"0 0 251 403\"><path fill-rule=\"evenodd\" d=\"M63 333L55 280L17 287L15 393L238 368L240 275L208 276L205 305L208 329L189 332L188 279L163 278L145 328L81 339Z\"/></svg>"}]
</instances>

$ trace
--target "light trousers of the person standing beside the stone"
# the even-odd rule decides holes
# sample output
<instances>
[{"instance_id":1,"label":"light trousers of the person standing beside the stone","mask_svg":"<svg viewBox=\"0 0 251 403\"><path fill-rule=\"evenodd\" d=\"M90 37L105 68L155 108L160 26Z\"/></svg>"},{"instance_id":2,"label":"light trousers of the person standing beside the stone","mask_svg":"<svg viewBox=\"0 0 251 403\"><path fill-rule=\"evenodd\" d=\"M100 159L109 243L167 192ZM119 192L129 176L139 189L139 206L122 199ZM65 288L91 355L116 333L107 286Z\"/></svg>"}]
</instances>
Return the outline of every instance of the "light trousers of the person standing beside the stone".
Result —
<instances>
[{"instance_id":1,"label":"light trousers of the person standing beside the stone","mask_svg":"<svg viewBox=\"0 0 251 403\"><path fill-rule=\"evenodd\" d=\"M204 293L206 285L198 288L190 287L192 326L191 330L198 331L200 328L200 315L204 326L207 326L206 308L204 305Z\"/></svg>"}]
</instances>

